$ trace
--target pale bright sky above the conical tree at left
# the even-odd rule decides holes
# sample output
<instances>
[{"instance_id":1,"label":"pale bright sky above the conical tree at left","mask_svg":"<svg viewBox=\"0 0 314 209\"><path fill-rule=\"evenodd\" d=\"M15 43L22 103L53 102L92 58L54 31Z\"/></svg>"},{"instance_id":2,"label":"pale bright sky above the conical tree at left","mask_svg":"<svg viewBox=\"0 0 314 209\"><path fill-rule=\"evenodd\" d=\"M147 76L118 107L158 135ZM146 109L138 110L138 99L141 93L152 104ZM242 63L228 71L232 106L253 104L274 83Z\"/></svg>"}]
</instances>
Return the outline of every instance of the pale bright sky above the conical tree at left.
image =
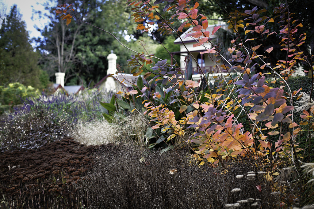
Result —
<instances>
[{"instance_id":1,"label":"pale bright sky above the conical tree at left","mask_svg":"<svg viewBox=\"0 0 314 209\"><path fill-rule=\"evenodd\" d=\"M29 33L30 39L33 37L39 37L41 34L37 31L34 25L37 25L39 28L43 28L43 26L47 23L47 19L36 19L31 20L32 18L32 10L41 10L44 11L44 7L41 3L44 3L43 0L1 0L7 7L7 14L10 13L11 7L13 4L17 5L20 13L22 14L22 20L26 23L26 30ZM33 6L33 7L32 7Z\"/></svg>"}]
</instances>

